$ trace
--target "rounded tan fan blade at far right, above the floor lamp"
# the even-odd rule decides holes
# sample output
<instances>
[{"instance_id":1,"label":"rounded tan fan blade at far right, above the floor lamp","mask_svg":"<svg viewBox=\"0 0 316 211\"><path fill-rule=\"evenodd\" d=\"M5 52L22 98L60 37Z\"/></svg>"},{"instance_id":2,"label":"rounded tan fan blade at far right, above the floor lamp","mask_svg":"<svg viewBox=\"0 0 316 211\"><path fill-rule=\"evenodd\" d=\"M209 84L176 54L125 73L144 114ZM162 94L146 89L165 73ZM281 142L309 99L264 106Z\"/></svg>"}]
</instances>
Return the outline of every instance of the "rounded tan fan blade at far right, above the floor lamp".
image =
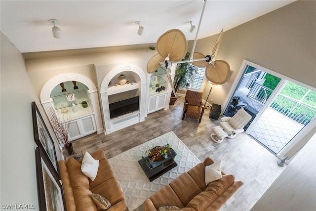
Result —
<instances>
[{"instance_id":1,"label":"rounded tan fan blade at far right, above the floor lamp","mask_svg":"<svg viewBox=\"0 0 316 211\"><path fill-rule=\"evenodd\" d=\"M231 68L224 60L216 60L213 64L209 64L205 70L205 77L214 84L224 84L229 77Z\"/></svg>"}]
</instances>

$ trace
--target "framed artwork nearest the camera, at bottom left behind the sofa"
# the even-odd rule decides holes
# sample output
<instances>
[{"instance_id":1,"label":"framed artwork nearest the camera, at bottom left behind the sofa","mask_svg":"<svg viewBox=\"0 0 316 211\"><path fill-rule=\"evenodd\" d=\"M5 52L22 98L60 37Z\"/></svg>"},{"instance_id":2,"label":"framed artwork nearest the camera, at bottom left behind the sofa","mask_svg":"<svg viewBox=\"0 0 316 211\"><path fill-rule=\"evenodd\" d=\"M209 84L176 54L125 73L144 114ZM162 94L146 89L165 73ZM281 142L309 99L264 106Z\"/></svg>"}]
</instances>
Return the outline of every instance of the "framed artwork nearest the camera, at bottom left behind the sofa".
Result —
<instances>
[{"instance_id":1,"label":"framed artwork nearest the camera, at bottom left behind the sofa","mask_svg":"<svg viewBox=\"0 0 316 211\"><path fill-rule=\"evenodd\" d=\"M63 188L49 160L40 147L36 148L36 163L40 211L65 211Z\"/></svg>"}]
</instances>

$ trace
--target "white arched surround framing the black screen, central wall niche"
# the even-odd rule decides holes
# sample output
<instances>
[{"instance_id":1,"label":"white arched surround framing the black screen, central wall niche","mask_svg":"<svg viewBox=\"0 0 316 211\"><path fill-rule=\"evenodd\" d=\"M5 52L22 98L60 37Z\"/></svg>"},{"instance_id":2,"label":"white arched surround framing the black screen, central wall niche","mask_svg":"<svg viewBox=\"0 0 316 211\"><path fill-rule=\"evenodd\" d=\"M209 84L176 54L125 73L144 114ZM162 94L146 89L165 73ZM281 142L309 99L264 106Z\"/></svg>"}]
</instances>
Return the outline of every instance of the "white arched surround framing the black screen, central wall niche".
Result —
<instances>
[{"instance_id":1,"label":"white arched surround framing the black screen, central wall niche","mask_svg":"<svg viewBox=\"0 0 316 211\"><path fill-rule=\"evenodd\" d=\"M124 74L127 77L127 80L130 81L131 84L125 84L126 86L113 86L117 83L117 77L120 74ZM109 85L111 82L111 85ZM127 86L128 85L128 86ZM139 94L139 112L137 114L125 115L123 117L119 117L119 119L111 119L110 118L110 108L109 103L111 103L111 97L109 101L109 96L115 93L119 95L120 93L123 95L127 91L130 91L131 86L137 86L137 94ZM114 69L112 69L103 79L100 88L101 94L101 103L103 110L103 120L105 124L105 132L109 134L118 129L128 127L130 125L143 122L145 120L145 107L147 103L147 95L146 95L146 75L144 71L135 66L135 65L121 65ZM136 88L135 88L136 89ZM135 90L133 88L133 90ZM119 98L119 97L118 97Z\"/></svg>"}]
</instances>

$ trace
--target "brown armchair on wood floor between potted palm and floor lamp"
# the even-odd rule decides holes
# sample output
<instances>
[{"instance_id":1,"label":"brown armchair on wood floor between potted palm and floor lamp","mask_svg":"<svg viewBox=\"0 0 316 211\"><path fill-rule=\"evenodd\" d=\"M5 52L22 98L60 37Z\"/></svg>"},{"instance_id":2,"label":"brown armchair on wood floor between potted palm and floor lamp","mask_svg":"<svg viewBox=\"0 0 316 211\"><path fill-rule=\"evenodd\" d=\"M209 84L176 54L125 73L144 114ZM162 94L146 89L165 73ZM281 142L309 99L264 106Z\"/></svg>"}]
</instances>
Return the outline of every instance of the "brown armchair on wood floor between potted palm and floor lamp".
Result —
<instances>
[{"instance_id":1,"label":"brown armchair on wood floor between potted palm and floor lamp","mask_svg":"<svg viewBox=\"0 0 316 211\"><path fill-rule=\"evenodd\" d=\"M201 122L202 115L204 113L204 107L202 106L203 92L187 90L184 105L183 105L183 115L184 118L198 119Z\"/></svg>"}]
</instances>

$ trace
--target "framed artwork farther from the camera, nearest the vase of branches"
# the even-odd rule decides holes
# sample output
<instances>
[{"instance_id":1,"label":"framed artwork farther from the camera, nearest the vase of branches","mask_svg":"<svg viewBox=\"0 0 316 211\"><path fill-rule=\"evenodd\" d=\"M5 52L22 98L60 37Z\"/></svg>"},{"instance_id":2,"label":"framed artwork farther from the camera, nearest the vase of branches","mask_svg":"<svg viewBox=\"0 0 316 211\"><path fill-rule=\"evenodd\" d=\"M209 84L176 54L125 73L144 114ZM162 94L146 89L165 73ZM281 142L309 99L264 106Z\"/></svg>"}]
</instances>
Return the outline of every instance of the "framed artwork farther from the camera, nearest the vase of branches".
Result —
<instances>
[{"instance_id":1,"label":"framed artwork farther from the camera, nearest the vase of branches","mask_svg":"<svg viewBox=\"0 0 316 211\"><path fill-rule=\"evenodd\" d=\"M53 167L55 173L59 176L55 145L35 102L32 102L32 119L34 140L40 149L45 153L45 156L47 156L48 160L50 161L49 165Z\"/></svg>"}]
</instances>

